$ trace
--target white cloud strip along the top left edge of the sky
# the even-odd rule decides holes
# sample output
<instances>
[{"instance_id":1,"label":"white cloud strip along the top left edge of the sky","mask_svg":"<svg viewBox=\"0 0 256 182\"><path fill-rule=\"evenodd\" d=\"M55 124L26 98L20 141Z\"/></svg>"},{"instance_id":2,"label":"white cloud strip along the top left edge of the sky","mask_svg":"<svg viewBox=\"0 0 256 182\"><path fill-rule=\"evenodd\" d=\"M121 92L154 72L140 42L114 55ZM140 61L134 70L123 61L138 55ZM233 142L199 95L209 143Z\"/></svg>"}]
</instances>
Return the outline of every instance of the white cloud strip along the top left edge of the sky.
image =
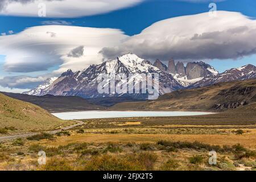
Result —
<instances>
[{"instance_id":1,"label":"white cloud strip along the top left edge of the sky","mask_svg":"<svg viewBox=\"0 0 256 182\"><path fill-rule=\"evenodd\" d=\"M108 13L137 5L143 0L1 0L0 14L38 16L38 5L46 5L47 17L73 18Z\"/></svg>"}]
</instances>

